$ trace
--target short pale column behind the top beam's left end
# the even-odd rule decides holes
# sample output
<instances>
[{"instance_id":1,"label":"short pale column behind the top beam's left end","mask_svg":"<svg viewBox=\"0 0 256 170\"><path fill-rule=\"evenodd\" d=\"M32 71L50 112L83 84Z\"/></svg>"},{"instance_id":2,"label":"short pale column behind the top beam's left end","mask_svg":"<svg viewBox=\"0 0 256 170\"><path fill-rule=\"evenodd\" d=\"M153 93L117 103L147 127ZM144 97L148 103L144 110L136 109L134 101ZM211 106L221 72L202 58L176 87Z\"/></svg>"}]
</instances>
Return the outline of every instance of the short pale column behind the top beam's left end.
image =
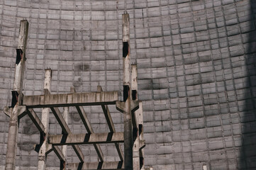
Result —
<instances>
[{"instance_id":1,"label":"short pale column behind the top beam's left end","mask_svg":"<svg viewBox=\"0 0 256 170\"><path fill-rule=\"evenodd\" d=\"M43 85L43 89L46 91L50 91L50 82L52 79L52 70L45 69L45 82ZM46 152L48 145L48 126L49 126L49 108L43 108L42 110L42 123L45 126L45 136L43 137L43 145L40 147L38 154L38 170L45 170L46 164Z\"/></svg>"}]
</instances>

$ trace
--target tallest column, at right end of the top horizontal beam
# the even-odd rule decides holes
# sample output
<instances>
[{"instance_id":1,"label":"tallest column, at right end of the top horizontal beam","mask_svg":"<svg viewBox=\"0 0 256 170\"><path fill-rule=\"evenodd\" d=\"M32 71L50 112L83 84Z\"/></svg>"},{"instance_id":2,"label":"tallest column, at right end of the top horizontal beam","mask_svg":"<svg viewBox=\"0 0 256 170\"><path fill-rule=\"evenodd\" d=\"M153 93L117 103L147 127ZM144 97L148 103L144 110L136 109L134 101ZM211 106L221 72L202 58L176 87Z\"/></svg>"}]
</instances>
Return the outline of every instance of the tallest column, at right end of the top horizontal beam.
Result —
<instances>
[{"instance_id":1,"label":"tallest column, at right end of the top horizontal beam","mask_svg":"<svg viewBox=\"0 0 256 170\"><path fill-rule=\"evenodd\" d=\"M130 109L130 18L123 14L124 168L133 169L133 127Z\"/></svg>"}]
</instances>

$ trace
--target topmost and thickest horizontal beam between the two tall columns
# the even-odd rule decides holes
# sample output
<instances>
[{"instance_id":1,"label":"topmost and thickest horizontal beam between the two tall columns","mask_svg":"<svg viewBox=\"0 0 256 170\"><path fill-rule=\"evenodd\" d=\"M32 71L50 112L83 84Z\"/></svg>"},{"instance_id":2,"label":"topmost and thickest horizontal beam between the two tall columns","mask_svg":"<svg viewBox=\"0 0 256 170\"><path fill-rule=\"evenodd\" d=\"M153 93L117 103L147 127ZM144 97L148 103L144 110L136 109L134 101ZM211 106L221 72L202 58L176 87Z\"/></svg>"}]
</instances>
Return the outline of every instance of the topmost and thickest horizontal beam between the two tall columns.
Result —
<instances>
[{"instance_id":1,"label":"topmost and thickest horizontal beam between the two tall columns","mask_svg":"<svg viewBox=\"0 0 256 170\"><path fill-rule=\"evenodd\" d=\"M27 106L27 108L107 105L116 104L116 101L118 101L118 91L45 94L23 97L23 105Z\"/></svg>"}]
</instances>

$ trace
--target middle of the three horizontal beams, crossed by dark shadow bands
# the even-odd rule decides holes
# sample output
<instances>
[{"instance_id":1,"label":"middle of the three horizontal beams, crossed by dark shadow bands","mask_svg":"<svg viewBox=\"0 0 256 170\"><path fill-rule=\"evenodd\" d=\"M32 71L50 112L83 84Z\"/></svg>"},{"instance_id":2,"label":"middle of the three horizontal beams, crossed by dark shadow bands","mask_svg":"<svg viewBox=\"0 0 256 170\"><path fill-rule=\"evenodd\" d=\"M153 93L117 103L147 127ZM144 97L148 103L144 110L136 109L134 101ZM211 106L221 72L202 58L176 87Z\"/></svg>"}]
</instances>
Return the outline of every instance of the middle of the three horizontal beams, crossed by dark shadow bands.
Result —
<instances>
[{"instance_id":1,"label":"middle of the three horizontal beams, crossed by dark shadow bands","mask_svg":"<svg viewBox=\"0 0 256 170\"><path fill-rule=\"evenodd\" d=\"M52 145L85 145L123 142L123 132L50 135Z\"/></svg>"}]
</instances>

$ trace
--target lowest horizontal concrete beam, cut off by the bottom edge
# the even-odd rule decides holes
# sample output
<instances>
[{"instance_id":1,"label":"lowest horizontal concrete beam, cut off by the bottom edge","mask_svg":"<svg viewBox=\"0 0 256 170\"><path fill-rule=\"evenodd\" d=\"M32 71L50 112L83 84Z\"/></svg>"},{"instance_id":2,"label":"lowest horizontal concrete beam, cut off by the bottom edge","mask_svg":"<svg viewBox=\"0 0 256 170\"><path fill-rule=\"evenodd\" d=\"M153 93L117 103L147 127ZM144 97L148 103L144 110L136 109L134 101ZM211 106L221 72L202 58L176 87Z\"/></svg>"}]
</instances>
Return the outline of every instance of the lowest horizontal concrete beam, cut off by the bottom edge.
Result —
<instances>
[{"instance_id":1,"label":"lowest horizontal concrete beam, cut off by the bottom edge","mask_svg":"<svg viewBox=\"0 0 256 170\"><path fill-rule=\"evenodd\" d=\"M69 169L82 169L82 170L96 170L96 169L117 169L122 170L123 162L84 162L84 164L80 163L69 163Z\"/></svg>"}]
</instances>

